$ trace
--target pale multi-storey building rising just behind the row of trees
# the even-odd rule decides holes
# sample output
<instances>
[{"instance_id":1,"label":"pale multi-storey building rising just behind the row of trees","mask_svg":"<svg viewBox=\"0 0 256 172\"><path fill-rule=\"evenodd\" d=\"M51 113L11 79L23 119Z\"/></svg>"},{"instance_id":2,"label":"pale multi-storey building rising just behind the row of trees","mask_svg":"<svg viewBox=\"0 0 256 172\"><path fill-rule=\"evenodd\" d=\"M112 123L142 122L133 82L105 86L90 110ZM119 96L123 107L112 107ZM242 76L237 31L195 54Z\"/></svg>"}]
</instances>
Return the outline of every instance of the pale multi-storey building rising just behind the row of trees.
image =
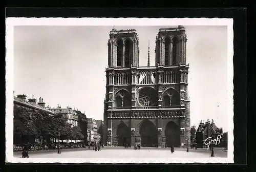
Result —
<instances>
[{"instance_id":1,"label":"pale multi-storey building rising just behind the row of trees","mask_svg":"<svg viewBox=\"0 0 256 172\"><path fill-rule=\"evenodd\" d=\"M58 105L57 108L49 108L49 110L56 114L63 115L63 118L71 125L71 127L78 125L78 114L75 109L72 110L71 107L61 108L61 106Z\"/></svg>"}]
</instances>

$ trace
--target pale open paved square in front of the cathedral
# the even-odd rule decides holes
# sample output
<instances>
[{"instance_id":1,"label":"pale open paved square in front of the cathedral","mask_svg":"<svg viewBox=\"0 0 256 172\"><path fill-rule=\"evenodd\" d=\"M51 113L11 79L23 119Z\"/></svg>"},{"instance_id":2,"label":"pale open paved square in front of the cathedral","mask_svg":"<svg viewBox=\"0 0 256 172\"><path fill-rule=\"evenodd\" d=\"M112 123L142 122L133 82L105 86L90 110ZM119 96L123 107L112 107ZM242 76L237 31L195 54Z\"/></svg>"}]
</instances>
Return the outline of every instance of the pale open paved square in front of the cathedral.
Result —
<instances>
[{"instance_id":1,"label":"pale open paved square in front of the cathedral","mask_svg":"<svg viewBox=\"0 0 256 172\"><path fill-rule=\"evenodd\" d=\"M222 150L222 148L216 148L215 157L227 158L227 152ZM147 147L142 147L140 150L104 147L101 151L97 152L92 149L83 148L62 150L61 154L57 154L57 150L29 153L31 158L209 158L210 155L211 151L205 148L189 149L189 152L186 152L185 148L176 148L174 154L171 154L169 148ZM14 157L21 157L21 152L15 153Z\"/></svg>"}]
</instances>

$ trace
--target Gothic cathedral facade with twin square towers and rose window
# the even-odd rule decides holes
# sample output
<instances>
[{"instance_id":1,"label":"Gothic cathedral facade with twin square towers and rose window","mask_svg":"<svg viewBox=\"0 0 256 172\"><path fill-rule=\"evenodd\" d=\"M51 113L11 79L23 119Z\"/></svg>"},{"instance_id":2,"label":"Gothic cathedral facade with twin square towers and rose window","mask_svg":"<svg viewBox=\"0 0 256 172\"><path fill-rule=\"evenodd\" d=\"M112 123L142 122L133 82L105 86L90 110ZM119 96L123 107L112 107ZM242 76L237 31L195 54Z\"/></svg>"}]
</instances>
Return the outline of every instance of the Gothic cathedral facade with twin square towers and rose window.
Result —
<instances>
[{"instance_id":1,"label":"Gothic cathedral facade with twin square towers and rose window","mask_svg":"<svg viewBox=\"0 0 256 172\"><path fill-rule=\"evenodd\" d=\"M139 66L136 30L110 32L103 142L180 147L190 144L185 28L159 29L155 65Z\"/></svg>"}]
</instances>

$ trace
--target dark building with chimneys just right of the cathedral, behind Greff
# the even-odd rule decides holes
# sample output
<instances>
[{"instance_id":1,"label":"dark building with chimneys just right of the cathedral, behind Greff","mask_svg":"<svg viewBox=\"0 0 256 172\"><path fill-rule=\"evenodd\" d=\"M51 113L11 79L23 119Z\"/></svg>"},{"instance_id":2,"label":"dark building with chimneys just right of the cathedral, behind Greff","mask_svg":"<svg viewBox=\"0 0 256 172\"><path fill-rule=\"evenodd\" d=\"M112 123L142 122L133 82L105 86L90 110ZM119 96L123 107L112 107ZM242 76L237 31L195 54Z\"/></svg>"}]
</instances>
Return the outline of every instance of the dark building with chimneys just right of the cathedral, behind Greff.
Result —
<instances>
[{"instance_id":1,"label":"dark building with chimneys just right of the cathedral, behind Greff","mask_svg":"<svg viewBox=\"0 0 256 172\"><path fill-rule=\"evenodd\" d=\"M196 142L198 147L205 146L205 139L212 137L217 139L217 136L223 134L222 128L218 128L214 122L214 120L207 119L206 122L200 121L199 126L196 132Z\"/></svg>"}]
</instances>

